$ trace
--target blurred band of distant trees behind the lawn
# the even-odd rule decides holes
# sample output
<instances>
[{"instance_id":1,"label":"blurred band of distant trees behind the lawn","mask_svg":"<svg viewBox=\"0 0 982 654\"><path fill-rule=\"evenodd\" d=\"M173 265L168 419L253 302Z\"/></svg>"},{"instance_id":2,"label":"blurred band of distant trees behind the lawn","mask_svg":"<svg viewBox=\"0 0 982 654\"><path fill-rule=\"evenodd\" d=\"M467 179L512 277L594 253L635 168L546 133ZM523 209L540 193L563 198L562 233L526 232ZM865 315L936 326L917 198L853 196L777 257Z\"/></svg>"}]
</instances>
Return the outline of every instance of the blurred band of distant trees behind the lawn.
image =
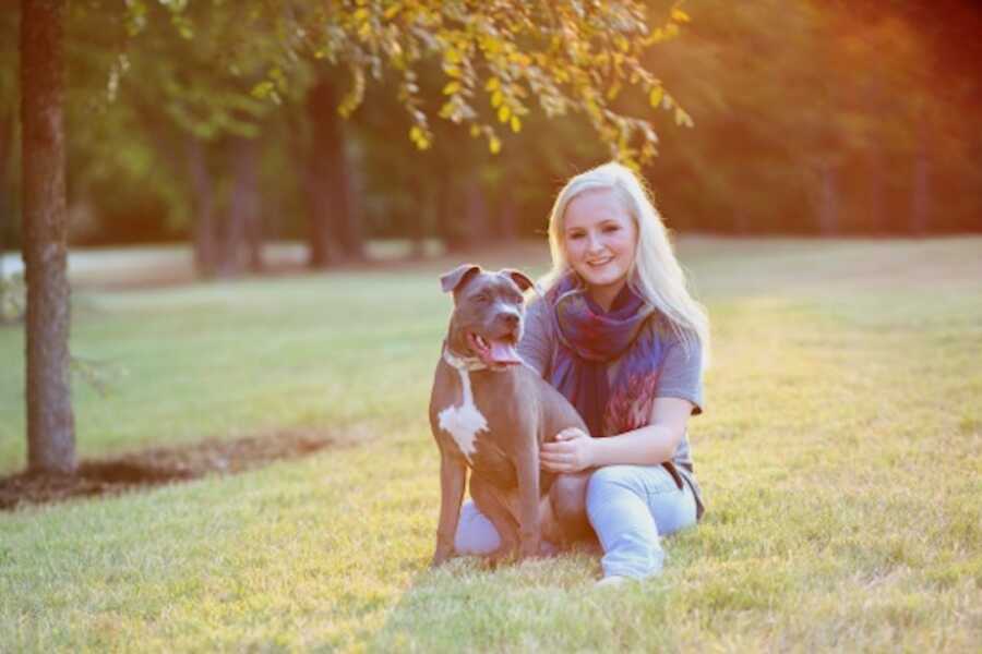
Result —
<instances>
[{"instance_id":1,"label":"blurred band of distant trees behind the lawn","mask_svg":"<svg viewBox=\"0 0 982 654\"><path fill-rule=\"evenodd\" d=\"M201 265L229 274L261 266L258 246L271 238L308 240L315 265L358 257L372 237L467 247L541 233L565 179L610 156L583 119L538 113L499 154L446 121L421 152L384 88L397 81L369 84L361 107L342 119L347 70L308 65L284 80L277 70L236 70L223 57L225 39L241 37L235 10L202 4L191 15L195 34L183 37L156 21L128 38L125 25L96 11L71 13L74 243L189 239ZM692 22L651 50L650 63L695 124L657 112L660 155L643 171L673 229L982 230L978 3L693 0L685 10ZM17 12L3 12L8 250L20 231L16 28ZM434 64L418 82L434 107L444 90L439 72ZM275 84L264 86L270 77ZM652 111L651 98L616 101L635 114Z\"/></svg>"}]
</instances>

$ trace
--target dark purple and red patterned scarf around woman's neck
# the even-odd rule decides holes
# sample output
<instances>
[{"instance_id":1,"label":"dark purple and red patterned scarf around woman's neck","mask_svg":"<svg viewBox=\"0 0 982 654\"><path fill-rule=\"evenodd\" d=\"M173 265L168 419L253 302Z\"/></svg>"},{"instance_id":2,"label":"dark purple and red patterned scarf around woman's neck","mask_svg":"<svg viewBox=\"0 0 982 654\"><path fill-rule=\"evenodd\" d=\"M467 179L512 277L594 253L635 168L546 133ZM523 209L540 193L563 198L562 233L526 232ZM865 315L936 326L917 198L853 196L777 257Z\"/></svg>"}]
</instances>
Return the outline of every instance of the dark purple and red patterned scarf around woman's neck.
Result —
<instances>
[{"instance_id":1,"label":"dark purple and red patterned scarf around woman's neck","mask_svg":"<svg viewBox=\"0 0 982 654\"><path fill-rule=\"evenodd\" d=\"M546 294L560 347L550 383L583 415L591 436L612 436L650 422L662 358L661 339L646 329L654 306L628 284L604 312L575 275ZM620 359L612 379L608 365Z\"/></svg>"}]
</instances>

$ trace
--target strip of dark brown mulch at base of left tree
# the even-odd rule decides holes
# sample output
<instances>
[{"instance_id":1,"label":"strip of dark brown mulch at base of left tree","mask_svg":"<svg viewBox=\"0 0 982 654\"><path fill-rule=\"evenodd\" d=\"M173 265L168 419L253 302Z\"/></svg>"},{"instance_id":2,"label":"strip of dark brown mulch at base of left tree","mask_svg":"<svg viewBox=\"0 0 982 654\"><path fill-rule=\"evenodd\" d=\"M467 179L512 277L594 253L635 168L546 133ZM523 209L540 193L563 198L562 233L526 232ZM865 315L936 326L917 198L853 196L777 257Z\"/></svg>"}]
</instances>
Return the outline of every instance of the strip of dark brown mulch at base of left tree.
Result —
<instances>
[{"instance_id":1,"label":"strip of dark brown mulch at base of left tree","mask_svg":"<svg viewBox=\"0 0 982 654\"><path fill-rule=\"evenodd\" d=\"M274 461L308 457L333 444L334 440L324 434L283 431L83 461L73 474L22 472L0 477L0 510L13 511L76 497L117 495L208 474L236 474Z\"/></svg>"}]
</instances>

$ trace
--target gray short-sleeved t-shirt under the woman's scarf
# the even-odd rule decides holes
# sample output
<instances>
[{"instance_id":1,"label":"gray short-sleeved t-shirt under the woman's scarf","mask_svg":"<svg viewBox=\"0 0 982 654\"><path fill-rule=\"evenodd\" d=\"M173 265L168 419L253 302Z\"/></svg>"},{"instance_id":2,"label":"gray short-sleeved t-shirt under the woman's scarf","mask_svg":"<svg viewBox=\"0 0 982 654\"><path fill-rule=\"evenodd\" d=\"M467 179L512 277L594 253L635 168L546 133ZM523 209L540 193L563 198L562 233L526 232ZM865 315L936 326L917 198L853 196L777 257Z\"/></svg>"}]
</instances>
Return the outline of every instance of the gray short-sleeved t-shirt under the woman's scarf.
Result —
<instances>
[{"instance_id":1,"label":"gray short-sleeved t-shirt under the woman's scarf","mask_svg":"<svg viewBox=\"0 0 982 654\"><path fill-rule=\"evenodd\" d=\"M518 353L522 359L547 380L560 348L555 323L549 314L550 311L549 303L542 298L537 298L529 304L525 317L525 334L522 342L518 343ZM655 397L688 400L693 404L693 415L698 415L703 412L702 349L691 347L686 351L685 344L669 328L667 319L661 314L656 313L645 328L656 330L663 344ZM613 380L620 364L620 360L610 363L607 371L609 379ZM687 432L682 435L682 441L675 448L672 463L675 464L679 474L692 486L698 502L698 512L702 514L702 493L692 473L692 450L688 446Z\"/></svg>"}]
</instances>

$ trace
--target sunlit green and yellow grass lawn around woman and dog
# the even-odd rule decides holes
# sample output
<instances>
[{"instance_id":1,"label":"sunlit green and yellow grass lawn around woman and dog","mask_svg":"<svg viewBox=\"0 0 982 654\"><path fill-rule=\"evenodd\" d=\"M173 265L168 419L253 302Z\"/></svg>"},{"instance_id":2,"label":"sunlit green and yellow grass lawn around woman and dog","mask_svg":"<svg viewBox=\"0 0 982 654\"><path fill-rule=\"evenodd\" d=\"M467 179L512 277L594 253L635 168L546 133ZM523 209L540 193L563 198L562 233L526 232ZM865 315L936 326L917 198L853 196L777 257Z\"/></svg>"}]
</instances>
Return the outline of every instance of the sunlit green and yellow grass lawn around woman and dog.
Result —
<instances>
[{"instance_id":1,"label":"sunlit green and yellow grass lawn around woman and dog","mask_svg":"<svg viewBox=\"0 0 982 654\"><path fill-rule=\"evenodd\" d=\"M82 457L303 427L300 461L0 513L0 651L950 651L982 642L982 238L680 242L714 327L708 512L664 573L427 568L459 263L76 290ZM531 253L531 254L530 254ZM544 246L476 256L546 266ZM0 329L0 474L25 460Z\"/></svg>"}]
</instances>

